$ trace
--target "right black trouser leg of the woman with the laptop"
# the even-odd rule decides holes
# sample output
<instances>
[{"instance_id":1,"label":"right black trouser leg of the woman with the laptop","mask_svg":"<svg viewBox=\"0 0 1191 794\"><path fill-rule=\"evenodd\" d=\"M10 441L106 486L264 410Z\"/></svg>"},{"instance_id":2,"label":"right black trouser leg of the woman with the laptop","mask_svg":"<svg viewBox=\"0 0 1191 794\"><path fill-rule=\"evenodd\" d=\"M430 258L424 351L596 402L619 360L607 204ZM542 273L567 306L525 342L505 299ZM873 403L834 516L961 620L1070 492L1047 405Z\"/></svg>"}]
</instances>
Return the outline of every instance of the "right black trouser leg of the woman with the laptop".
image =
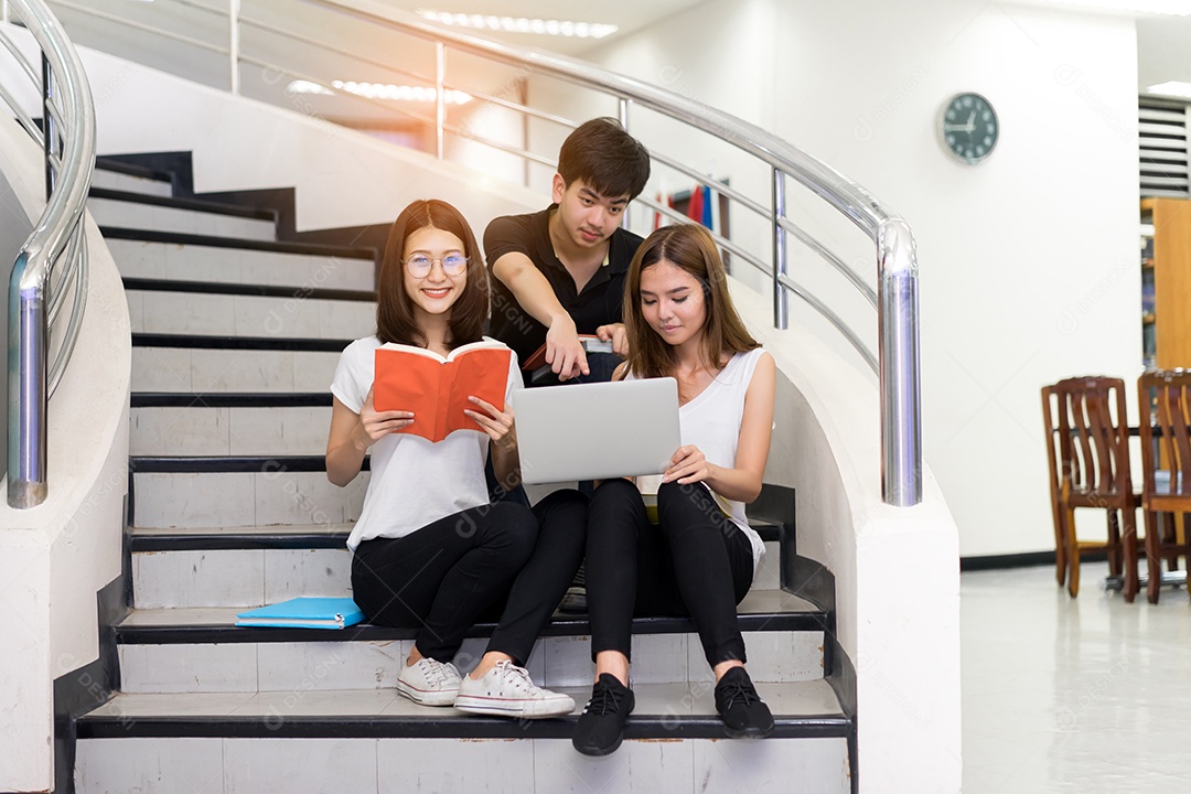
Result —
<instances>
[{"instance_id":1,"label":"right black trouser leg of the woman with the laptop","mask_svg":"<svg viewBox=\"0 0 1191 794\"><path fill-rule=\"evenodd\" d=\"M674 579L704 655L715 667L744 661L736 605L753 582L753 546L703 484L663 483L657 518L673 561Z\"/></svg>"}]
</instances>

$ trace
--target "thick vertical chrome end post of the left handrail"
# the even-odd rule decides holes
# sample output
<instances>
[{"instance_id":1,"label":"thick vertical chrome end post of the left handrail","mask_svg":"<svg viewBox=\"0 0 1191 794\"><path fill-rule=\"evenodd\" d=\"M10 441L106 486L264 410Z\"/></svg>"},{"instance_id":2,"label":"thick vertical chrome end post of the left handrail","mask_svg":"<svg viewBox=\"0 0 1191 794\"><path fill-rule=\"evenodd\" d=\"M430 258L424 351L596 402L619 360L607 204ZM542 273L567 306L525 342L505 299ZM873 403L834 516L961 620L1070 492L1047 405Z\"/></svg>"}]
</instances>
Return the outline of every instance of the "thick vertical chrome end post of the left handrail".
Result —
<instances>
[{"instance_id":1,"label":"thick vertical chrome end post of the left handrail","mask_svg":"<svg viewBox=\"0 0 1191 794\"><path fill-rule=\"evenodd\" d=\"M18 257L8 287L8 505L21 509L48 493L45 280L29 258Z\"/></svg>"}]
</instances>

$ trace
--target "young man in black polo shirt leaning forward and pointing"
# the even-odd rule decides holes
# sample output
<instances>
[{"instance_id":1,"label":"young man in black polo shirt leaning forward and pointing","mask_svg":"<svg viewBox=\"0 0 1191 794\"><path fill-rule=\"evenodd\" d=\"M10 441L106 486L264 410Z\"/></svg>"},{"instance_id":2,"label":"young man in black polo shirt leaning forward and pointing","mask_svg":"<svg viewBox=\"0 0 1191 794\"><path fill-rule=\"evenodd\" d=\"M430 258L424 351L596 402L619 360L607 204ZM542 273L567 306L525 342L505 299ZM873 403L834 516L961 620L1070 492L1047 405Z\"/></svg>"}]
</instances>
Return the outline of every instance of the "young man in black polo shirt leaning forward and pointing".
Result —
<instances>
[{"instance_id":1,"label":"young man in black polo shirt leaning forward and pointing","mask_svg":"<svg viewBox=\"0 0 1191 794\"><path fill-rule=\"evenodd\" d=\"M610 342L616 355L628 352L621 302L642 239L621 221L648 180L646 148L616 119L592 119L562 144L553 204L488 224L492 336L523 365L544 345L544 362L560 381L611 377L615 356L588 357L579 335Z\"/></svg>"}]
</instances>

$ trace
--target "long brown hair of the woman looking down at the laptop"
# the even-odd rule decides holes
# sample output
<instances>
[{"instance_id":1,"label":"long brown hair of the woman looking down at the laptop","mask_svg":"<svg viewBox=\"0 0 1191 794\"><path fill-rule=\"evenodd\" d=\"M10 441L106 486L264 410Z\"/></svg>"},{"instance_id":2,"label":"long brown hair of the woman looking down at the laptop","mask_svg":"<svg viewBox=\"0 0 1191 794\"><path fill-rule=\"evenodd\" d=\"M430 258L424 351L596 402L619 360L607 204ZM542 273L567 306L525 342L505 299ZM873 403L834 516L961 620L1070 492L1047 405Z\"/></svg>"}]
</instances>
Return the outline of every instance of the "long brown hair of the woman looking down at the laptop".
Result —
<instances>
[{"instance_id":1,"label":"long brown hair of the woman looking down at the laptop","mask_svg":"<svg viewBox=\"0 0 1191 794\"><path fill-rule=\"evenodd\" d=\"M729 354L760 348L728 294L728 276L711 233L698 224L663 226L646 238L629 264L624 281L624 325L629 335L629 371L637 377L674 374L674 348L646 321L641 311L641 274L661 261L690 273L703 285L706 320L700 350L710 369L723 367Z\"/></svg>"}]
</instances>

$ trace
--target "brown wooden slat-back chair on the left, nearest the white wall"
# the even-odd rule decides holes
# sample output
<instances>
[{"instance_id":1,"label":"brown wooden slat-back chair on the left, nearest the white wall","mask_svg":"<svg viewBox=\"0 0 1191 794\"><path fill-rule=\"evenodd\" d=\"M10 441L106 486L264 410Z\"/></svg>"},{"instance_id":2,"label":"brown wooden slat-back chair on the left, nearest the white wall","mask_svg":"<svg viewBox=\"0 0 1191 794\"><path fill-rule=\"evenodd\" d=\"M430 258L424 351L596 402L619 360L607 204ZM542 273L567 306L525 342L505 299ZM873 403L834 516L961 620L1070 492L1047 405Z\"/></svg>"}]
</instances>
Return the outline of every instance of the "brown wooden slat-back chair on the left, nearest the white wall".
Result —
<instances>
[{"instance_id":1,"label":"brown wooden slat-back chair on the left, nearest the white wall","mask_svg":"<svg viewBox=\"0 0 1191 794\"><path fill-rule=\"evenodd\" d=\"M1118 377L1070 377L1042 388L1050 506L1054 517L1055 579L1079 594L1079 555L1108 551L1109 573L1124 573L1127 601L1137 594L1137 521L1140 504L1129 474L1129 427L1124 381ZM1075 509L1108 512L1108 540L1079 540ZM1120 513L1120 518L1118 518ZM1123 531L1122 531L1123 527Z\"/></svg>"}]
</instances>

